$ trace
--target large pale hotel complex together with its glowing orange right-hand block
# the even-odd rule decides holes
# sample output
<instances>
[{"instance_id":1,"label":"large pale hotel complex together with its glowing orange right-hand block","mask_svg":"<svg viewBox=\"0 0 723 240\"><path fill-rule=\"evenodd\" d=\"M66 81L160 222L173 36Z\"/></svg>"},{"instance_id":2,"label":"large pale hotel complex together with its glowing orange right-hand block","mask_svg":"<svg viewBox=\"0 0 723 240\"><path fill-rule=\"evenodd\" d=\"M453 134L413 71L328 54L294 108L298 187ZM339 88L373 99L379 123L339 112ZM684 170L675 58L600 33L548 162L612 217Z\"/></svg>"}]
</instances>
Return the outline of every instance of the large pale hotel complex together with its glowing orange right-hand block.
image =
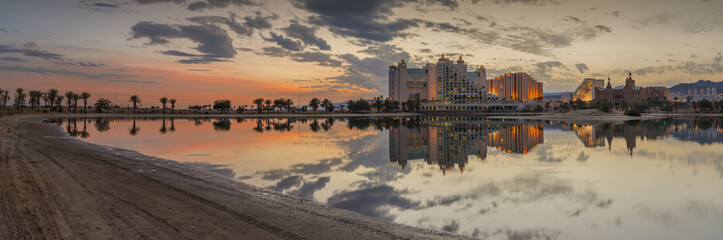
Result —
<instances>
[{"instance_id":1,"label":"large pale hotel complex together with its glowing orange right-hand block","mask_svg":"<svg viewBox=\"0 0 723 240\"><path fill-rule=\"evenodd\" d=\"M542 83L527 73L486 78L484 66L468 72L461 56L452 61L443 54L424 68L408 68L401 60L389 66L389 96L420 101L422 111L514 111L542 100Z\"/></svg>"}]
</instances>

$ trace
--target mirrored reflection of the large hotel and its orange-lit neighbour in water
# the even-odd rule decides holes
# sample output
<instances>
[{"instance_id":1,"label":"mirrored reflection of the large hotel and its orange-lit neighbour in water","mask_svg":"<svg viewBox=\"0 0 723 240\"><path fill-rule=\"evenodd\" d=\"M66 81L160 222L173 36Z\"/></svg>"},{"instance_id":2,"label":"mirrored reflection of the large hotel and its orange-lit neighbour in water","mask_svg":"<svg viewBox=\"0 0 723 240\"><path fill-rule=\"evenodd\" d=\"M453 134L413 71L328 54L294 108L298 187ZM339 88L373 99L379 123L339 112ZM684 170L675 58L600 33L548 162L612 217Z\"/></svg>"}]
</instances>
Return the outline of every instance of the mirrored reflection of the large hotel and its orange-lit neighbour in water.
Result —
<instances>
[{"instance_id":1,"label":"mirrored reflection of the large hotel and its orange-lit neighbour in water","mask_svg":"<svg viewBox=\"0 0 723 240\"><path fill-rule=\"evenodd\" d=\"M404 120L402 120L404 121ZM482 116L425 116L416 124L389 129L389 158L401 167L408 161L459 171L471 157L487 158L487 147L527 154L544 142L542 124L487 120Z\"/></svg>"}]
</instances>

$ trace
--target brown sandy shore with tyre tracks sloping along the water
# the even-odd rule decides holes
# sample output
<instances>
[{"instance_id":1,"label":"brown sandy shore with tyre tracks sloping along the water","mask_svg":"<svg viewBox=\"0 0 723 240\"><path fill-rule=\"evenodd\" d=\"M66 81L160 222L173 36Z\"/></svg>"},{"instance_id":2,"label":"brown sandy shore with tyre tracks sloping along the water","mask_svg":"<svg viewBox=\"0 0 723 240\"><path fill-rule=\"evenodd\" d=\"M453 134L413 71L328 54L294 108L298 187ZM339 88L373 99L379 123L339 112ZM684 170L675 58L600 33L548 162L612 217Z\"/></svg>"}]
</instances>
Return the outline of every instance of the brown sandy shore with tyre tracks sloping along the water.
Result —
<instances>
[{"instance_id":1,"label":"brown sandy shore with tyre tracks sloping along the water","mask_svg":"<svg viewBox=\"0 0 723 240\"><path fill-rule=\"evenodd\" d=\"M83 142L49 117L64 115L0 118L0 239L466 239Z\"/></svg>"}]
</instances>

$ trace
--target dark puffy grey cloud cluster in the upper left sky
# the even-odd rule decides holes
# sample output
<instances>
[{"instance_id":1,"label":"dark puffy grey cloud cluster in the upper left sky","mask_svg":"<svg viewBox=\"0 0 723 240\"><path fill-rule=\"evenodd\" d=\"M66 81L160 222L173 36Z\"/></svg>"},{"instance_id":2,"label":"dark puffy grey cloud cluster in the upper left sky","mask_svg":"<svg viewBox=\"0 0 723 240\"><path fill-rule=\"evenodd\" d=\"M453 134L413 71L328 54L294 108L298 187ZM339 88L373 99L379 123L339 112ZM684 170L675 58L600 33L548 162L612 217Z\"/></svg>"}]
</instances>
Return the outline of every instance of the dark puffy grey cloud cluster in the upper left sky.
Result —
<instances>
[{"instance_id":1,"label":"dark puffy grey cloud cluster in the upper left sky","mask_svg":"<svg viewBox=\"0 0 723 240\"><path fill-rule=\"evenodd\" d=\"M209 63L227 61L219 58L233 58L236 50L226 30L215 25L182 25L173 27L168 24L139 22L133 27L130 39L148 38L148 44L167 44L168 39L186 38L197 43L196 50L204 53L190 54L180 51L166 51L166 55L193 57L179 60L179 63Z\"/></svg>"}]
</instances>

